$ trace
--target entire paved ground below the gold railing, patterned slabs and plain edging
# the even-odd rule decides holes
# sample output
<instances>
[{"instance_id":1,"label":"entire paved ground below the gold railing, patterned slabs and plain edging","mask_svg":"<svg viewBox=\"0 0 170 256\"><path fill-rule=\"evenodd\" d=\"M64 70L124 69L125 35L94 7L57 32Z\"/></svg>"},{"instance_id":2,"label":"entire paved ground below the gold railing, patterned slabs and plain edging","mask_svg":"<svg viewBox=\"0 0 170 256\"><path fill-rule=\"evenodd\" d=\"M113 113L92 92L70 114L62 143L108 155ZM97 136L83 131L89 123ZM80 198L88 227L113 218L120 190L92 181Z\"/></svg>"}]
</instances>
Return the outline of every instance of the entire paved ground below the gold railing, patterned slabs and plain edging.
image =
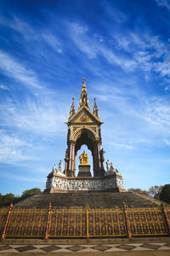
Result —
<instances>
[{"instance_id":1,"label":"entire paved ground below the gold railing, patterned slabs and plain edging","mask_svg":"<svg viewBox=\"0 0 170 256\"><path fill-rule=\"evenodd\" d=\"M170 255L170 238L134 240L3 240L0 241L0 255Z\"/></svg>"}]
</instances>

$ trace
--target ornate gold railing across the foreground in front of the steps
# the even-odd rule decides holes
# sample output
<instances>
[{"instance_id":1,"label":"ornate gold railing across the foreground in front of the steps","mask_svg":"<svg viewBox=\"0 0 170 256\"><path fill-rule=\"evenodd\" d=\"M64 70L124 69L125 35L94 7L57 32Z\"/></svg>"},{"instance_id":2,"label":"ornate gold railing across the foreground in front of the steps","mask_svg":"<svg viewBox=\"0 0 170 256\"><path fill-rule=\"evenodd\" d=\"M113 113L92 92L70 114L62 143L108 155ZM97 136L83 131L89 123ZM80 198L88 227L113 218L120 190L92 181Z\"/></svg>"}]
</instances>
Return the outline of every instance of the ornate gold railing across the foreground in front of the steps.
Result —
<instances>
[{"instance_id":1,"label":"ornate gold railing across the foreground in front of the steps","mask_svg":"<svg viewBox=\"0 0 170 256\"><path fill-rule=\"evenodd\" d=\"M170 207L0 208L4 238L90 238L170 235Z\"/></svg>"}]
</instances>

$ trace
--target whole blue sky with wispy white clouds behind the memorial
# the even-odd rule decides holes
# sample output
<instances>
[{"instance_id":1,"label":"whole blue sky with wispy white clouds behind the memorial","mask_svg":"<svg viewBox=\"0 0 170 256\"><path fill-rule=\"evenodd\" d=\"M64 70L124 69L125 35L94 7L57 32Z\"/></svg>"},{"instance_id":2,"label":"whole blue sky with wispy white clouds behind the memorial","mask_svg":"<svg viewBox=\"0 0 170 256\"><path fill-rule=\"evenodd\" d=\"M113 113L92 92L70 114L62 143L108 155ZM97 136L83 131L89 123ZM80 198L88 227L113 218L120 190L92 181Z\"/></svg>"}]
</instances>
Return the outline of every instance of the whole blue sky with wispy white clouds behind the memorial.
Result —
<instances>
[{"instance_id":1,"label":"whole blue sky with wispy white clouds behind the memorial","mask_svg":"<svg viewBox=\"0 0 170 256\"><path fill-rule=\"evenodd\" d=\"M45 188L82 77L125 188L169 183L169 32L169 0L1 0L0 192Z\"/></svg>"}]
</instances>

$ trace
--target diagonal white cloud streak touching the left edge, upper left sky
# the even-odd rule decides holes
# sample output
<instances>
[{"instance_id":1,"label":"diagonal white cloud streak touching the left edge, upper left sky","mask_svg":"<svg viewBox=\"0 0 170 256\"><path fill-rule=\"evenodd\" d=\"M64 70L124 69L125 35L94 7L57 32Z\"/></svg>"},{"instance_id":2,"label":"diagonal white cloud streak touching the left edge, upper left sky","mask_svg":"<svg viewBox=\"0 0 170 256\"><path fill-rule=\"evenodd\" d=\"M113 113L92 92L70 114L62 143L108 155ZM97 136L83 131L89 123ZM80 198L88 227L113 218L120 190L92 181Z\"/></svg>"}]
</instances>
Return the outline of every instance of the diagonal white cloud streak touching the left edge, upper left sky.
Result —
<instances>
[{"instance_id":1,"label":"diagonal white cloud streak touching the left edge, upper left sky","mask_svg":"<svg viewBox=\"0 0 170 256\"><path fill-rule=\"evenodd\" d=\"M35 88L42 88L35 73L27 70L24 65L20 64L13 57L0 50L0 68L10 78L20 81L21 84L26 84Z\"/></svg>"}]
</instances>

